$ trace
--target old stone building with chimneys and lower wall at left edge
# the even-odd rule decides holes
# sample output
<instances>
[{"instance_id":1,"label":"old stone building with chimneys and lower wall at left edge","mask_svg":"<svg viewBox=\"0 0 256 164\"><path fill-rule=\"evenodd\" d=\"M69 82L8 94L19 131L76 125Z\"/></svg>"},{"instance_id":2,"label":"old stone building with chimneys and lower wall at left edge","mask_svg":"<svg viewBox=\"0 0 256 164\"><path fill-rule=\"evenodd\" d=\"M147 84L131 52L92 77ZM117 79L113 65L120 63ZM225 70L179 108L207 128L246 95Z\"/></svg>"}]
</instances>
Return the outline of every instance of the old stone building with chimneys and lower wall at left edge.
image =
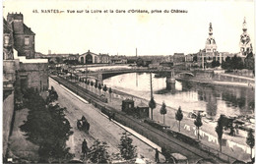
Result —
<instances>
[{"instance_id":1,"label":"old stone building with chimneys and lower wall at left edge","mask_svg":"<svg viewBox=\"0 0 256 164\"><path fill-rule=\"evenodd\" d=\"M6 157L14 106L22 102L23 89L48 89L47 59L34 58L34 33L22 14L3 20L3 154Z\"/></svg>"}]
</instances>

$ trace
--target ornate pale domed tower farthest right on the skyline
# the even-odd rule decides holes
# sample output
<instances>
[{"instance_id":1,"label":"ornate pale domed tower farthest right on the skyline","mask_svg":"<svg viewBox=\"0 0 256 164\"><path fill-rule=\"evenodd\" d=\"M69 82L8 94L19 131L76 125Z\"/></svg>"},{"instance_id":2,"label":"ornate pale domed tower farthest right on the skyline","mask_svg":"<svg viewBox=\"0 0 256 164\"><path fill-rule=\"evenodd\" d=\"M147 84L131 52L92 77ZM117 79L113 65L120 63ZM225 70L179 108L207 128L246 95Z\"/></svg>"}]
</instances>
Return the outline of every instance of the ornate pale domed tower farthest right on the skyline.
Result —
<instances>
[{"instance_id":1,"label":"ornate pale domed tower farthest right on the skyline","mask_svg":"<svg viewBox=\"0 0 256 164\"><path fill-rule=\"evenodd\" d=\"M240 35L240 52L243 56L247 56L250 52L252 52L252 43L249 34L247 33L246 20L243 20L242 26L243 33Z\"/></svg>"}]
</instances>

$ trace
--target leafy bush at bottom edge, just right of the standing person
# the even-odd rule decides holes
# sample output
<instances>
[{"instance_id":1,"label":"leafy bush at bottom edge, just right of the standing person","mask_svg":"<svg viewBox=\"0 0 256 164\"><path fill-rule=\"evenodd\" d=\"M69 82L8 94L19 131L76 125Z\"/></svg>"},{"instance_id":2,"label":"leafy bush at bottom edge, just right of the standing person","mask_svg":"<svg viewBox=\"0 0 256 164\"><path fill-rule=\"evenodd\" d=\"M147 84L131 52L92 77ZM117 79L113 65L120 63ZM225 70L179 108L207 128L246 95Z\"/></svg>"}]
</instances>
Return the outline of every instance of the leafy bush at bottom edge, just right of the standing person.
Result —
<instances>
[{"instance_id":1,"label":"leafy bush at bottom edge, just right of the standing person","mask_svg":"<svg viewBox=\"0 0 256 164\"><path fill-rule=\"evenodd\" d=\"M98 139L96 139L89 150L89 160L93 163L107 163L109 160L109 155L106 150L107 147L106 142L100 142Z\"/></svg>"}]
</instances>

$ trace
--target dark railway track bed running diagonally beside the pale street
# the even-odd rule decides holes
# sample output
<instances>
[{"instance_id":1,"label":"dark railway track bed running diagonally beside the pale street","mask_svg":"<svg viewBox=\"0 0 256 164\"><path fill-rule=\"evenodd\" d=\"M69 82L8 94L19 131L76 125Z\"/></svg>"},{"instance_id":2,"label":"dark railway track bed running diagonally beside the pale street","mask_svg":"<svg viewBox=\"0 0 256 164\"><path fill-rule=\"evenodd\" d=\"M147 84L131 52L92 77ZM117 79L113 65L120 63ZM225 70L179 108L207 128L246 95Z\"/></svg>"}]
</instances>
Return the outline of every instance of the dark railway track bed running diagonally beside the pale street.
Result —
<instances>
[{"instance_id":1,"label":"dark railway track bed running diagonally beside the pale street","mask_svg":"<svg viewBox=\"0 0 256 164\"><path fill-rule=\"evenodd\" d=\"M85 98L87 101L94 104L97 108L105 108L107 110L114 111L115 121L117 121L119 124L122 124L125 127L132 129L133 131L135 131L136 133L140 134L143 137L147 137L149 140L156 143L160 147L165 146L166 148L169 148L171 152L178 152L181 153L182 155L185 155L189 159L189 163L195 163L196 161L202 158L214 159L216 163L231 163L235 160L230 157L222 157L222 154L220 154L220 156L219 154L218 156L215 156L205 150L192 146L189 143L182 142L181 140L175 137L168 136L167 134L161 132L160 130L157 130L151 127L150 125L142 122L141 120L135 119L131 116L124 114L121 111L116 110L114 106L110 106L108 103L99 101L94 93L79 86L74 82L69 82L63 78L56 76L51 78L54 81L63 84L65 87L75 92L82 98Z\"/></svg>"}]
</instances>

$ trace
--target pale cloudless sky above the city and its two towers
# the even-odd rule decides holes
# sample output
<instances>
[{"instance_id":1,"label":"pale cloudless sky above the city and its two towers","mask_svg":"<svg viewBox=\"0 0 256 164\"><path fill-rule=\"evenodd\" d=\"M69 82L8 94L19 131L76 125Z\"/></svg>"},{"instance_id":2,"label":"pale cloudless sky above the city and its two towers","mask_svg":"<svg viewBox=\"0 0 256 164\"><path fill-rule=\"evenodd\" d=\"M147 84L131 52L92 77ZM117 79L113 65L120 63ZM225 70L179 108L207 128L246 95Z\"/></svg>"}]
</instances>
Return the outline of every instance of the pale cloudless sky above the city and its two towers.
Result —
<instances>
[{"instance_id":1,"label":"pale cloudless sky above the city and its two towers","mask_svg":"<svg viewBox=\"0 0 256 164\"><path fill-rule=\"evenodd\" d=\"M6 0L3 17L6 18L8 12L24 15L24 23L35 33L36 52L83 54L90 50L97 54L127 56L134 56L136 48L139 56L197 53L205 48L210 23L217 50L236 53L245 17L255 53L254 5L253 0ZM41 12L51 9L64 12ZM148 10L149 14L127 13L132 9ZM187 13L171 13L176 9ZM96 10L102 13L91 13ZM108 13L103 13L104 10ZM126 13L116 13L116 10ZM151 13L152 10L170 12Z\"/></svg>"}]
</instances>

